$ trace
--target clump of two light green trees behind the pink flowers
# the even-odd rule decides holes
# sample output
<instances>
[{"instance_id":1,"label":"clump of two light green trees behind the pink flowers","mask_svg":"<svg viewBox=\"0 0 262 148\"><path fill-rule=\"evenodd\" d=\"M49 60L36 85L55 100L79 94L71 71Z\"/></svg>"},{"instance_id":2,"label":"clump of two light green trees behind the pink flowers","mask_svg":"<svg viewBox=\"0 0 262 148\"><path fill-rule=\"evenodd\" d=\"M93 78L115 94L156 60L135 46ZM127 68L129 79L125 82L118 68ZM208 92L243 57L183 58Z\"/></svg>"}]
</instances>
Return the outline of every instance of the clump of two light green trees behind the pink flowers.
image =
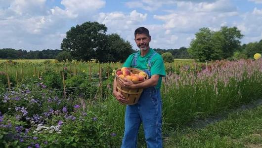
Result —
<instances>
[{"instance_id":1,"label":"clump of two light green trees behind the pink flowers","mask_svg":"<svg viewBox=\"0 0 262 148\"><path fill-rule=\"evenodd\" d=\"M240 50L243 35L236 28L221 27L219 31L201 28L190 43L188 53L199 61L221 60L233 56Z\"/></svg>"}]
</instances>

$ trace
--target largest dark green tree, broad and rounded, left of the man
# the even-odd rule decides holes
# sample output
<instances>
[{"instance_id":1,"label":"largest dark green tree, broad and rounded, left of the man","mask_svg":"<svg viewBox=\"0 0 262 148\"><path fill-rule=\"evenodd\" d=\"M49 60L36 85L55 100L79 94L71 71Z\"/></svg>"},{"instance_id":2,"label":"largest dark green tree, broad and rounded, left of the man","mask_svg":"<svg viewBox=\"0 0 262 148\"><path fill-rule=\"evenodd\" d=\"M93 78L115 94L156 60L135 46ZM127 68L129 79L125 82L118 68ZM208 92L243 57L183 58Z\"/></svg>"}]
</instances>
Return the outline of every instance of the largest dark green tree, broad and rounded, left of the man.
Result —
<instances>
[{"instance_id":1,"label":"largest dark green tree, broad and rounded, left of the man","mask_svg":"<svg viewBox=\"0 0 262 148\"><path fill-rule=\"evenodd\" d=\"M77 60L90 60L96 50L103 50L107 28L97 22L86 22L72 27L61 43L61 49L68 51Z\"/></svg>"}]
</instances>

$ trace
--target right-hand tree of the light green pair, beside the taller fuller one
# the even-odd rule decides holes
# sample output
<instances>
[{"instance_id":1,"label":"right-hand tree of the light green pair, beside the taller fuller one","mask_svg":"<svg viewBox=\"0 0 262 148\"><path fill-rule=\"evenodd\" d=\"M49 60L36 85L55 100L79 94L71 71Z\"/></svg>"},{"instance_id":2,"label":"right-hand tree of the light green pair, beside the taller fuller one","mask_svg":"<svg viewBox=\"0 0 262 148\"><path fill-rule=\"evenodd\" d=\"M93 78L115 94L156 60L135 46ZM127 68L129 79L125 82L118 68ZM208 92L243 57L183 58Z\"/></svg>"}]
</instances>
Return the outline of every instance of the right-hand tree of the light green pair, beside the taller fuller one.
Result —
<instances>
[{"instance_id":1,"label":"right-hand tree of the light green pair, beside the taller fuller one","mask_svg":"<svg viewBox=\"0 0 262 148\"><path fill-rule=\"evenodd\" d=\"M222 57L224 59L233 56L234 51L240 49L241 39L244 37L240 30L237 27L221 27L219 31L223 37L223 44L222 44Z\"/></svg>"}]
</instances>

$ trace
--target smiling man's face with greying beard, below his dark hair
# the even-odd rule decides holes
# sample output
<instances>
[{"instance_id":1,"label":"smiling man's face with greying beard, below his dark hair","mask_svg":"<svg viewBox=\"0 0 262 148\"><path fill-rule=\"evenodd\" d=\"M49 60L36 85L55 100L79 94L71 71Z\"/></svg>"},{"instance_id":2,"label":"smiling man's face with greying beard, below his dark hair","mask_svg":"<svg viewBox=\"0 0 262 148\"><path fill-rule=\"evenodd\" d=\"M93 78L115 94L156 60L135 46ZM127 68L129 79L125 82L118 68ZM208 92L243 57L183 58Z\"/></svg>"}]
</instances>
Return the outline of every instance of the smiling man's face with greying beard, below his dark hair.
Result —
<instances>
[{"instance_id":1,"label":"smiling man's face with greying beard, below his dark hair","mask_svg":"<svg viewBox=\"0 0 262 148\"><path fill-rule=\"evenodd\" d=\"M149 49L151 37L147 37L145 34L136 34L134 40L137 47L140 48L141 51Z\"/></svg>"}]
</instances>

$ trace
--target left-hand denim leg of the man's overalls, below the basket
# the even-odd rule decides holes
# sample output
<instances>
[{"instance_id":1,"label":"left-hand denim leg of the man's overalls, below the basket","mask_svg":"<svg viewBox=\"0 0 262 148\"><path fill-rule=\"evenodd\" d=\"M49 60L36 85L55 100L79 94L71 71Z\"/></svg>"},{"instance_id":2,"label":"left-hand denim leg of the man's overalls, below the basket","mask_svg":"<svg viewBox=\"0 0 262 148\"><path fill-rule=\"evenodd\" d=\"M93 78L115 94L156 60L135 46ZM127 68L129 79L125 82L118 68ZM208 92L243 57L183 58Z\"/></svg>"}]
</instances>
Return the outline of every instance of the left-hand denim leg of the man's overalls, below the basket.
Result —
<instances>
[{"instance_id":1,"label":"left-hand denim leg of the man's overalls, below the basket","mask_svg":"<svg viewBox=\"0 0 262 148\"><path fill-rule=\"evenodd\" d=\"M136 105L127 105L125 115L125 133L121 148L136 148L138 129L141 124Z\"/></svg>"}]
</instances>

